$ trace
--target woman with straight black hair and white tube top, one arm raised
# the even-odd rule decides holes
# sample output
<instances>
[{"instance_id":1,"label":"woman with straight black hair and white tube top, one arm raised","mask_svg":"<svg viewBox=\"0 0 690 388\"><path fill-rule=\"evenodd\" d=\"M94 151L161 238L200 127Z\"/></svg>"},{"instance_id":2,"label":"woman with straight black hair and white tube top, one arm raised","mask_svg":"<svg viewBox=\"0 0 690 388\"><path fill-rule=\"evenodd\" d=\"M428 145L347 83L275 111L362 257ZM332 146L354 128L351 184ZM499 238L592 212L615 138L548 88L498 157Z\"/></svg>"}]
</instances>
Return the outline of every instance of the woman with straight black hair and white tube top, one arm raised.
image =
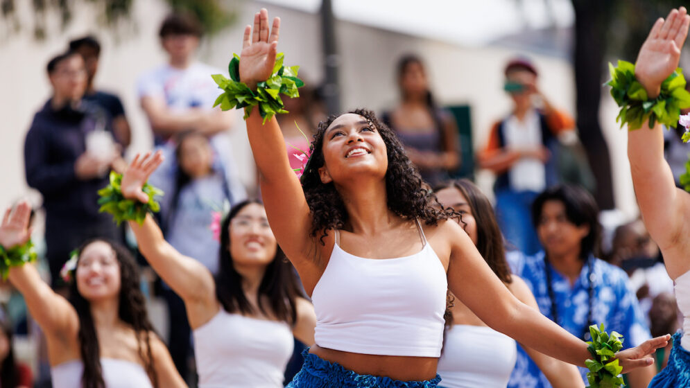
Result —
<instances>
[{"instance_id":1,"label":"woman with straight black hair and white tube top, one arm raised","mask_svg":"<svg viewBox=\"0 0 690 388\"><path fill-rule=\"evenodd\" d=\"M160 153L137 156L123 175L123 195L137 200L161 161ZM215 277L166 243L150 215L130 227L141 254L184 301L199 387L283 387L293 336L313 344L316 317L275 242L264 205L241 202L225 216Z\"/></svg>"}]
</instances>

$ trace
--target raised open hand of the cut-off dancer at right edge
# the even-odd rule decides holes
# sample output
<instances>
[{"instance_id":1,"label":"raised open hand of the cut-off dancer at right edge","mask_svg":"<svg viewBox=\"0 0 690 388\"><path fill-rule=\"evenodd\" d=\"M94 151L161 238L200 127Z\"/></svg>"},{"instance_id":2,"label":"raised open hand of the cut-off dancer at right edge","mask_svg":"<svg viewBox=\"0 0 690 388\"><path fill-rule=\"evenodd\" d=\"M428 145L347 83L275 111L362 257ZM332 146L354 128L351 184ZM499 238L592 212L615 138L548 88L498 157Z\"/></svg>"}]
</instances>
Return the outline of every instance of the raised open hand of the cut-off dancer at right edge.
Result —
<instances>
[{"instance_id":1,"label":"raised open hand of the cut-off dancer at right edge","mask_svg":"<svg viewBox=\"0 0 690 388\"><path fill-rule=\"evenodd\" d=\"M659 95L662 82L678 67L680 50L688 35L690 15L685 7L659 17L642 44L635 63L635 76L650 98Z\"/></svg>"}]
</instances>

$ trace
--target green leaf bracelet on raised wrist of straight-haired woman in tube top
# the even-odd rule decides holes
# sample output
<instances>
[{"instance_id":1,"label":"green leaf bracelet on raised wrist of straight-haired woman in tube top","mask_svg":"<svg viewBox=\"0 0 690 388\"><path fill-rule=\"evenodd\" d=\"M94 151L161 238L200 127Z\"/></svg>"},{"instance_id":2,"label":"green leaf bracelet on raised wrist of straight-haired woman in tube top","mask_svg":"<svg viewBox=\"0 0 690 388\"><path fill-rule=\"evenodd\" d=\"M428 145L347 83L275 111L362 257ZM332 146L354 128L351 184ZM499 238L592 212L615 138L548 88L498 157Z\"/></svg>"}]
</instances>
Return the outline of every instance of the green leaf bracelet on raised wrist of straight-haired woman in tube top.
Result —
<instances>
[{"instance_id":1,"label":"green leaf bracelet on raised wrist of straight-haired woman in tube top","mask_svg":"<svg viewBox=\"0 0 690 388\"><path fill-rule=\"evenodd\" d=\"M160 204L155 200L155 197L163 195L163 192L158 188L148 183L144 184L141 191L144 191L144 193L148 195L148 202L144 204L138 200L126 199L122 195L120 188L121 184L122 175L114 171L110 172L110 184L98 191L98 195L101 196L101 198L98 199L98 204L101 205L101 209L98 209L98 211L112 214L118 225L128 220L143 224L148 211L160 211Z\"/></svg>"}]
</instances>

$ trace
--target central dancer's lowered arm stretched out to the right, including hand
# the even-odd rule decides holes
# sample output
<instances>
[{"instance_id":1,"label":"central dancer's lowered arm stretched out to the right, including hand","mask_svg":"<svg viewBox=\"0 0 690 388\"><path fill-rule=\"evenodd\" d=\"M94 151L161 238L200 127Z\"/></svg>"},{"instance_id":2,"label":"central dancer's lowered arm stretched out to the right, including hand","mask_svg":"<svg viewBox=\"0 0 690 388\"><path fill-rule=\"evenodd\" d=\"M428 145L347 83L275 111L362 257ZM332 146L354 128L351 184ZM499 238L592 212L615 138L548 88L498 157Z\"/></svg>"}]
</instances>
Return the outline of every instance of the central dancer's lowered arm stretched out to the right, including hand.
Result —
<instances>
[{"instance_id":1,"label":"central dancer's lowered arm stretched out to the right, including hand","mask_svg":"<svg viewBox=\"0 0 690 388\"><path fill-rule=\"evenodd\" d=\"M481 258L459 224L446 221L440 228L445 240L450 242L448 287L465 306L485 324L517 342L558 360L585 367L585 360L592 357L585 342L515 298ZM669 339L668 335L657 337L616 353L623 373L650 365L653 358L648 355L666 346Z\"/></svg>"}]
</instances>

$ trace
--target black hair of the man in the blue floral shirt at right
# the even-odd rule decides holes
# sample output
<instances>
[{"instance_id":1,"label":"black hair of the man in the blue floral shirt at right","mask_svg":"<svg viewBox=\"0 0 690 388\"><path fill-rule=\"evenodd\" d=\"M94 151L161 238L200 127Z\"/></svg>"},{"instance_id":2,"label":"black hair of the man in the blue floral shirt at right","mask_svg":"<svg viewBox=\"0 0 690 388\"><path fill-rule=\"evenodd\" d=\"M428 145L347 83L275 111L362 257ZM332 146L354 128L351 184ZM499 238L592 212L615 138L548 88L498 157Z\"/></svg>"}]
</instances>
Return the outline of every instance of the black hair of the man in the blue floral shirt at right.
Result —
<instances>
[{"instance_id":1,"label":"black hair of the man in the blue floral shirt at right","mask_svg":"<svg viewBox=\"0 0 690 388\"><path fill-rule=\"evenodd\" d=\"M559 184L543 191L532 204L532 222L538 227L544 210L544 203L558 201L565 207L569 222L580 227L586 224L589 233L580 242L580 258L587 260L590 254L598 256L601 239L601 225L598 221L599 208L594 197L584 188L571 184Z\"/></svg>"}]
</instances>

